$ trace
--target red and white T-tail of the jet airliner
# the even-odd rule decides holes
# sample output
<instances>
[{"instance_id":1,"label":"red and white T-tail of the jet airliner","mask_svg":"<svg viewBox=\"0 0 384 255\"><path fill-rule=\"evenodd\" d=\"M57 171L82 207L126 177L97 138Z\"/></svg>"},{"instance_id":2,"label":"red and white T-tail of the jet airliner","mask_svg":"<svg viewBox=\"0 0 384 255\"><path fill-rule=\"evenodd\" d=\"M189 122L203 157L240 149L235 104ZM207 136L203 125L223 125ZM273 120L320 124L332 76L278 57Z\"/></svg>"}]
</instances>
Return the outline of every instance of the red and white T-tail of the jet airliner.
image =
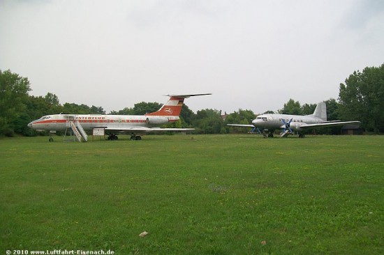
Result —
<instances>
[{"instance_id":1,"label":"red and white T-tail of the jet airliner","mask_svg":"<svg viewBox=\"0 0 384 255\"><path fill-rule=\"evenodd\" d=\"M145 114L146 116L179 116L182 111L185 98L190 98L197 95L212 95L207 94L193 94L193 95L168 95L170 99L158 111Z\"/></svg>"}]
</instances>

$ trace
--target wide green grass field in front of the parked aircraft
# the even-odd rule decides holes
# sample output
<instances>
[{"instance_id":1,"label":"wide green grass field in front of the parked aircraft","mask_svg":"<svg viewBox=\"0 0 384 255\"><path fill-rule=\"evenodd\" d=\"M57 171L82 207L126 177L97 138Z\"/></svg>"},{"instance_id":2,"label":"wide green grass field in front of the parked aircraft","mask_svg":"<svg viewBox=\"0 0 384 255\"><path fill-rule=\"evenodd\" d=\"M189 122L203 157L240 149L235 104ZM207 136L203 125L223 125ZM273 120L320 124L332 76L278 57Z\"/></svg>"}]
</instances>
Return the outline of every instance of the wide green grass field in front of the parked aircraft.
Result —
<instances>
[{"instance_id":1,"label":"wide green grass field in front of the parked aircraft","mask_svg":"<svg viewBox=\"0 0 384 255\"><path fill-rule=\"evenodd\" d=\"M0 139L0 254L384 254L384 136L121 138Z\"/></svg>"}]
</instances>

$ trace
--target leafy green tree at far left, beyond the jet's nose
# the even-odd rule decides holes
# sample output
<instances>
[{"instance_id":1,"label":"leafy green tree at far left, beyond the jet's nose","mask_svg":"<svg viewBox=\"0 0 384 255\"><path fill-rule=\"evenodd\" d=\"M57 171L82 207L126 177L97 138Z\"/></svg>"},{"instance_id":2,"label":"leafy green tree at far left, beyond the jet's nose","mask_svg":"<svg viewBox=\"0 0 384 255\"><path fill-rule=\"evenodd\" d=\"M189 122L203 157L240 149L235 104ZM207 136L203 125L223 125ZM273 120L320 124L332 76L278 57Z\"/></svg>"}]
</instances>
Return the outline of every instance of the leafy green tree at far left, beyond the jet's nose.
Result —
<instances>
[{"instance_id":1,"label":"leafy green tree at far left, beyond the jet's nose","mask_svg":"<svg viewBox=\"0 0 384 255\"><path fill-rule=\"evenodd\" d=\"M13 135L13 123L26 109L29 91L28 78L0 70L0 134Z\"/></svg>"}]
</instances>

